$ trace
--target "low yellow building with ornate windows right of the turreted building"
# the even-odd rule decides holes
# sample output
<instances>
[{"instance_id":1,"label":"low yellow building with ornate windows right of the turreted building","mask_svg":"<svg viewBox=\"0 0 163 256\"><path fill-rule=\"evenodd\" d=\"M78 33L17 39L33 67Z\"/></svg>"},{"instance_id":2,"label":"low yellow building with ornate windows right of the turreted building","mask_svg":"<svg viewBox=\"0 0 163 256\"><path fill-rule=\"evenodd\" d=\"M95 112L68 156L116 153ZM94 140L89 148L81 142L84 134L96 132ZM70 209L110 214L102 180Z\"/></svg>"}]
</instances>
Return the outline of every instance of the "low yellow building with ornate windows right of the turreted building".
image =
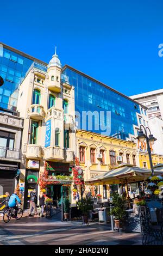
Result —
<instances>
[{"instance_id":1,"label":"low yellow building with ornate windows right of the turreted building","mask_svg":"<svg viewBox=\"0 0 163 256\"><path fill-rule=\"evenodd\" d=\"M137 145L133 142L84 130L77 130L76 139L77 157L84 170L84 180L101 175L122 162L139 166ZM96 193L107 199L109 186L98 186Z\"/></svg>"}]
</instances>

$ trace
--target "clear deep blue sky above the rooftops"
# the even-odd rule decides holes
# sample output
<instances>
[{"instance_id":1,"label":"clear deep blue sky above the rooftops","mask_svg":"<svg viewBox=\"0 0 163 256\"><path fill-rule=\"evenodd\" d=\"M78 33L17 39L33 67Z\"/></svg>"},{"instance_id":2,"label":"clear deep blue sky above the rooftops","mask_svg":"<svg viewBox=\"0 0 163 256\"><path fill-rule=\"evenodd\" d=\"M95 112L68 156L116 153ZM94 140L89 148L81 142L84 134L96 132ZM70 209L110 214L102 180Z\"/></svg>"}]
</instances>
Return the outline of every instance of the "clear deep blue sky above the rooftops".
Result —
<instances>
[{"instance_id":1,"label":"clear deep blue sky above the rooftops","mask_svg":"<svg viewBox=\"0 0 163 256\"><path fill-rule=\"evenodd\" d=\"M47 5L46 5L47 4ZM3 1L0 41L126 95L162 88L162 0Z\"/></svg>"}]
</instances>

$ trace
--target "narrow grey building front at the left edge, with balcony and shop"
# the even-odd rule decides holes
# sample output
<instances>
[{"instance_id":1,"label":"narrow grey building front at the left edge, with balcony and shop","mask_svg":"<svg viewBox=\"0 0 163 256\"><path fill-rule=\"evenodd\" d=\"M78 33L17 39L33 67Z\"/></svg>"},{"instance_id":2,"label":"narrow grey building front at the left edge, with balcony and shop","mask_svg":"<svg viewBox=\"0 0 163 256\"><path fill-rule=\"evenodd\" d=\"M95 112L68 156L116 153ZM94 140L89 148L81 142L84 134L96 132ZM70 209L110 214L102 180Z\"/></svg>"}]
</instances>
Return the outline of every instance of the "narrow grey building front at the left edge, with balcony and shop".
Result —
<instances>
[{"instance_id":1,"label":"narrow grey building front at the left edge, with balcony and shop","mask_svg":"<svg viewBox=\"0 0 163 256\"><path fill-rule=\"evenodd\" d=\"M23 121L18 115L0 113L0 194L12 194L18 182Z\"/></svg>"}]
</instances>

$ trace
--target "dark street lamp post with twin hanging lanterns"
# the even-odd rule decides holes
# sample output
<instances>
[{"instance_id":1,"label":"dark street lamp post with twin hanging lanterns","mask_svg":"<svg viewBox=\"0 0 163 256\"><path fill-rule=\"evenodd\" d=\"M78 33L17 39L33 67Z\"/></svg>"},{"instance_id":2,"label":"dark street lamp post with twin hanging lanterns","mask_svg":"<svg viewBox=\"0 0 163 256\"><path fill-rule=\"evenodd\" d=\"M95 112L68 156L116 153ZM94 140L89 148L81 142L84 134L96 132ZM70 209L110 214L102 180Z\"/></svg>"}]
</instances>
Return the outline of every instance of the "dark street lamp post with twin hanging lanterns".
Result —
<instances>
[{"instance_id":1,"label":"dark street lamp post with twin hanging lanterns","mask_svg":"<svg viewBox=\"0 0 163 256\"><path fill-rule=\"evenodd\" d=\"M143 127L143 129L145 130L145 133L143 133L143 130L141 129L141 127ZM147 130L149 131L149 136L147 135ZM151 166L151 172L152 172L152 176L154 176L154 168L153 168L153 163L152 163L152 156L151 156L151 148L149 143L151 143L151 145L154 144L154 142L156 141L156 138L154 138L154 136L151 134L151 130L143 125L140 125L140 131L138 133L137 139L139 139L140 142L144 142L146 139L147 142L147 152L148 152L148 156L149 156L149 163Z\"/></svg>"}]
</instances>

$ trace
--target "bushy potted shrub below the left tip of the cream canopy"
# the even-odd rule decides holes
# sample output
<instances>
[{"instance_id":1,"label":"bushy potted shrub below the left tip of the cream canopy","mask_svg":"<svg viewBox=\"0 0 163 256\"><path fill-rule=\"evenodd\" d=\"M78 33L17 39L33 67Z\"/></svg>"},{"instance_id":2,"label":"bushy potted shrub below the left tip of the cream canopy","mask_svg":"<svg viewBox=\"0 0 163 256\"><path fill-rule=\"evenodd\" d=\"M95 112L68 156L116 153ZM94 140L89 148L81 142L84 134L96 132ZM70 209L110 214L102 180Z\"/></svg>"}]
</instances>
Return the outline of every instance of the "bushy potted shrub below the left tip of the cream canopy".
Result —
<instances>
[{"instance_id":1,"label":"bushy potted shrub below the left tip of the cream canopy","mask_svg":"<svg viewBox=\"0 0 163 256\"><path fill-rule=\"evenodd\" d=\"M83 223L88 223L88 212L92 210L91 198L82 198L77 202L79 210L82 211Z\"/></svg>"}]
</instances>

